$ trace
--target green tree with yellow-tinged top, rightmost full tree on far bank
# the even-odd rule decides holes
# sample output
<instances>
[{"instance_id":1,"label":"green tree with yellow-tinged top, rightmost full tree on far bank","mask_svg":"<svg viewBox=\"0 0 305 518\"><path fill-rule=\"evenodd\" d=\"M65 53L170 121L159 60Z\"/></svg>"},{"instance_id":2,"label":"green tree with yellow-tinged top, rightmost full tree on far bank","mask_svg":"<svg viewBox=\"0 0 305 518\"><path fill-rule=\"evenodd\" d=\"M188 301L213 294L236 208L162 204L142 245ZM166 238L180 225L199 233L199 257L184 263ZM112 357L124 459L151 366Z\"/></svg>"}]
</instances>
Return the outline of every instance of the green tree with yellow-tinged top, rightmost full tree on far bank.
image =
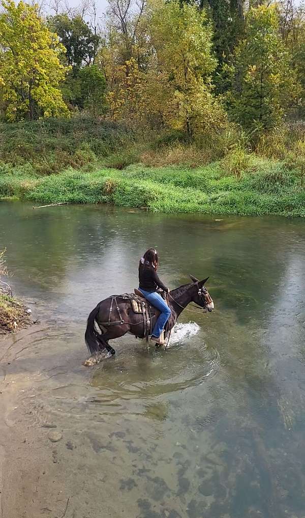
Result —
<instances>
[{"instance_id":1,"label":"green tree with yellow-tinged top, rightmost full tree on far bank","mask_svg":"<svg viewBox=\"0 0 305 518\"><path fill-rule=\"evenodd\" d=\"M251 8L245 38L236 49L229 96L232 112L245 128L259 132L275 126L295 102L299 86L290 59L277 6Z\"/></svg>"}]
</instances>

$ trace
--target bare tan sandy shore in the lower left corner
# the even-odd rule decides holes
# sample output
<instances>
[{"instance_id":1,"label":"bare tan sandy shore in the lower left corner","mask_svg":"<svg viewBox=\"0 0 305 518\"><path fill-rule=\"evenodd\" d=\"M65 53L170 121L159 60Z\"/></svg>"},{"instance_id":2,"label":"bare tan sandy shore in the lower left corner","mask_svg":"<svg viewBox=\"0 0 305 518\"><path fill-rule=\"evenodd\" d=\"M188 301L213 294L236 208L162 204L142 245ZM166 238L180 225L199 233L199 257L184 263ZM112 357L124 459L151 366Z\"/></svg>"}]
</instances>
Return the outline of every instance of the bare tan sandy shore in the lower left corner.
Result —
<instances>
[{"instance_id":1,"label":"bare tan sandy shore in the lower left corner","mask_svg":"<svg viewBox=\"0 0 305 518\"><path fill-rule=\"evenodd\" d=\"M43 351L32 361L28 353L48 333L48 325L32 325L0 340L1 518L63 516L73 493L64 469L71 438L41 401L59 362L54 356L48 374Z\"/></svg>"}]
</instances>

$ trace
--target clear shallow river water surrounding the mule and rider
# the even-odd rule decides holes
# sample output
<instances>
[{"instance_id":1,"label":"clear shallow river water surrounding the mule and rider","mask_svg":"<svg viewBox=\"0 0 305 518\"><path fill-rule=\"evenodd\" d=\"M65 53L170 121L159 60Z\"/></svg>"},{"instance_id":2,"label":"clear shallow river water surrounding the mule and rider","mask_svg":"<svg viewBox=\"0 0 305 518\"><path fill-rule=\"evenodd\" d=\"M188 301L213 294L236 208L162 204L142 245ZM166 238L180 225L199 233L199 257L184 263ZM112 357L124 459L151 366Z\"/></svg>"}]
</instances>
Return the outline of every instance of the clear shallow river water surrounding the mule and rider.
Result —
<instances>
[{"instance_id":1,"label":"clear shallow river water surrounding the mule and rider","mask_svg":"<svg viewBox=\"0 0 305 518\"><path fill-rule=\"evenodd\" d=\"M10 376L63 431L67 516L305 516L303 220L1 202L0 221L13 290L42 322L26 347L17 335ZM166 351L128 336L83 367L88 313L137 285L150 246L170 287L209 275L215 311L182 313Z\"/></svg>"}]
</instances>

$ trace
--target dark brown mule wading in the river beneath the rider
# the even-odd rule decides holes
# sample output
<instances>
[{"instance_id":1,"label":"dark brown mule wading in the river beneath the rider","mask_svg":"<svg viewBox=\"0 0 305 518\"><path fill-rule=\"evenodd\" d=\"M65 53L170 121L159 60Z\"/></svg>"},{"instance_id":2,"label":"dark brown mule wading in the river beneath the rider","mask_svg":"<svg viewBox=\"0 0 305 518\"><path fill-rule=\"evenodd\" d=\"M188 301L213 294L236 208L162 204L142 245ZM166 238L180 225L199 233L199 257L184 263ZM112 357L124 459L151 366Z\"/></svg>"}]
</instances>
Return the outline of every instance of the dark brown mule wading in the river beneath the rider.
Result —
<instances>
[{"instance_id":1,"label":"dark brown mule wading in the river beneath the rider","mask_svg":"<svg viewBox=\"0 0 305 518\"><path fill-rule=\"evenodd\" d=\"M170 330L176 324L180 313L190 302L197 304L206 311L214 309L213 300L205 287L208 277L203 281L199 281L192 275L190 277L193 283L184 284L176 290L172 290L168 295L171 315L166 325L166 337L169 336ZM115 297L115 302L111 303L113 297ZM144 338L143 315L134 313L130 300L121 298L119 295L113 297L105 298L99 302L88 317L85 342L92 355L105 349L111 354L115 354L108 341L119 338L128 332L139 338ZM157 316L158 313L156 318ZM110 325L107 325L108 322ZM111 322L114 322L114 325L111 325ZM95 323L101 333L97 332Z\"/></svg>"}]
</instances>

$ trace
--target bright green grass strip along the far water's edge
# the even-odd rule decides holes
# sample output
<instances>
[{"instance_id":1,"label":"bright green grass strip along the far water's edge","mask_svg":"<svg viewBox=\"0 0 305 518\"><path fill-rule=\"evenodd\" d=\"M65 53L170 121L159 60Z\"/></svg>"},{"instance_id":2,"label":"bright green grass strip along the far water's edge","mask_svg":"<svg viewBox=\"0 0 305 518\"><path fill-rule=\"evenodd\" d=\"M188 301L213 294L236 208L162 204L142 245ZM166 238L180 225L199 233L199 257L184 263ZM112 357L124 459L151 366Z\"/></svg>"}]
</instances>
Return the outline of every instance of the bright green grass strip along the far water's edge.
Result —
<instances>
[{"instance_id":1,"label":"bright green grass strip along the far water's edge","mask_svg":"<svg viewBox=\"0 0 305 518\"><path fill-rule=\"evenodd\" d=\"M220 163L198 169L128 166L124 170L68 169L41 177L25 166L0 170L0 196L41 203L111 203L155 212L281 214L305 217L297 171L260 159L255 171L226 176Z\"/></svg>"}]
</instances>

